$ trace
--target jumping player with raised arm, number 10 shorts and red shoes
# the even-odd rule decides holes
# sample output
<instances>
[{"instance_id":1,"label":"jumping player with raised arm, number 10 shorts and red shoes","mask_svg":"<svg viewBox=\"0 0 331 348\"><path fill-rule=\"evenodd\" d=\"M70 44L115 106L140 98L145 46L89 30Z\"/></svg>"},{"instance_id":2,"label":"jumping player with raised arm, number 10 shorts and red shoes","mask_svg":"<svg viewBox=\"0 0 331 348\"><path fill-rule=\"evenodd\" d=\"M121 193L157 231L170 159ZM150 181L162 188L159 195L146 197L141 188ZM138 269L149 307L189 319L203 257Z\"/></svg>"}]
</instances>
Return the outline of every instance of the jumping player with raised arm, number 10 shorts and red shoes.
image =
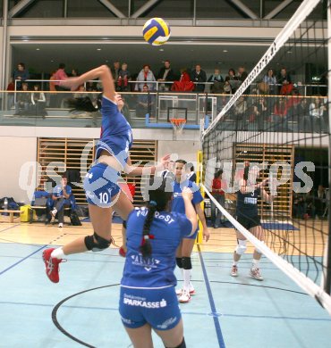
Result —
<instances>
[{"instance_id":1,"label":"jumping player with raised arm, number 10 shorts and red shoes","mask_svg":"<svg viewBox=\"0 0 331 348\"><path fill-rule=\"evenodd\" d=\"M77 78L62 82L63 87L77 87L92 79L101 79L103 85L102 96L102 126L101 137L98 141L96 159L93 167L84 179L84 190L89 203L89 217L94 228L91 236L81 236L63 247L44 251L43 259L46 265L47 277L54 283L59 281L59 263L66 255L84 253L87 251L102 251L109 247L113 239L111 236L113 208L126 220L133 205L127 195L123 194L117 184L120 172L129 175L141 175L150 171L154 173L157 167L132 167L129 150L132 146L132 128L125 120L121 110L123 99L115 93L112 74L106 65L89 70ZM79 106L80 100L77 100ZM162 169L169 156L162 159Z\"/></svg>"}]
</instances>

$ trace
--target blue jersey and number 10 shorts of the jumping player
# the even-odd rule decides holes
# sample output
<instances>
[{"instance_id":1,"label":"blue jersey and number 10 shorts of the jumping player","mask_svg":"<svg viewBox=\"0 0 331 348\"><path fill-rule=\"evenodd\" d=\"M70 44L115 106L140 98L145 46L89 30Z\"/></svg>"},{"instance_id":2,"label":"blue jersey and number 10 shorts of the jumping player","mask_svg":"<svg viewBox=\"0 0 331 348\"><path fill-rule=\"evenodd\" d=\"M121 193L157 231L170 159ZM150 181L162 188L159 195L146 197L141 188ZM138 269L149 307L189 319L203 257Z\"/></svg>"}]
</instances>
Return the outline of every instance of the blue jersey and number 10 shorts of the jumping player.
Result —
<instances>
[{"instance_id":1,"label":"blue jersey and number 10 shorts of the jumping player","mask_svg":"<svg viewBox=\"0 0 331 348\"><path fill-rule=\"evenodd\" d=\"M114 158L125 166L132 147L132 128L115 104L106 96L102 97L101 136L97 145L96 159L102 150L112 154ZM87 201L100 207L111 205L112 197L120 192L117 180L120 173L114 168L99 162L87 173L84 189Z\"/></svg>"}]
</instances>

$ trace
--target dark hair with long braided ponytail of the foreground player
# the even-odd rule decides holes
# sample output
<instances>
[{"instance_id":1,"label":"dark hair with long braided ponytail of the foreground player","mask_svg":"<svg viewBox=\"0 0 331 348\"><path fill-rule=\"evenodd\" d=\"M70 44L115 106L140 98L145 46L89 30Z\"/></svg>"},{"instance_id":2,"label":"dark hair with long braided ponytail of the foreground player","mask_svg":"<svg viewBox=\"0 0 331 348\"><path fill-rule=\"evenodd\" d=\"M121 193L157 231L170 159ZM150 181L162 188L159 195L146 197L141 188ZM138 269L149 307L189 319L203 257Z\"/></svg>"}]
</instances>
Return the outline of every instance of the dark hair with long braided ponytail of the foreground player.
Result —
<instances>
[{"instance_id":1,"label":"dark hair with long braided ponytail of the foreground player","mask_svg":"<svg viewBox=\"0 0 331 348\"><path fill-rule=\"evenodd\" d=\"M149 180L149 203L144 226L142 228L142 241L140 244L140 253L143 258L149 258L152 254L151 239L154 235L150 228L156 211L165 211L169 201L173 196L172 185L166 178L151 178Z\"/></svg>"}]
</instances>

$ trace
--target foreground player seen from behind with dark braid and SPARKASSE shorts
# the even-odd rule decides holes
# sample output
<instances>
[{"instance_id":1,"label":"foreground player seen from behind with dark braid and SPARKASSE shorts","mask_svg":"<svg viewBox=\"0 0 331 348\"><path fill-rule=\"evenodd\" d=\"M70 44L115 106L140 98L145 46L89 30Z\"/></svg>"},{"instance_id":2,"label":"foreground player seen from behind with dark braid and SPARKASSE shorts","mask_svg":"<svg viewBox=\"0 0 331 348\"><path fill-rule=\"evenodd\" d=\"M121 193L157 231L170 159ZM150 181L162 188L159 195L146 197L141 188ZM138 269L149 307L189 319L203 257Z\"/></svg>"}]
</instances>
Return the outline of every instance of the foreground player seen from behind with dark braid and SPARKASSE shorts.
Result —
<instances>
[{"instance_id":1,"label":"foreground player seen from behind with dark braid and SPARKASSE shorts","mask_svg":"<svg viewBox=\"0 0 331 348\"><path fill-rule=\"evenodd\" d=\"M119 311L135 348L151 348L152 329L165 347L185 348L182 316L174 291L175 253L182 237L197 228L190 188L182 189L184 213L170 212L171 180L151 178L147 208L127 220L127 256ZM157 187L157 188L154 188Z\"/></svg>"}]
</instances>

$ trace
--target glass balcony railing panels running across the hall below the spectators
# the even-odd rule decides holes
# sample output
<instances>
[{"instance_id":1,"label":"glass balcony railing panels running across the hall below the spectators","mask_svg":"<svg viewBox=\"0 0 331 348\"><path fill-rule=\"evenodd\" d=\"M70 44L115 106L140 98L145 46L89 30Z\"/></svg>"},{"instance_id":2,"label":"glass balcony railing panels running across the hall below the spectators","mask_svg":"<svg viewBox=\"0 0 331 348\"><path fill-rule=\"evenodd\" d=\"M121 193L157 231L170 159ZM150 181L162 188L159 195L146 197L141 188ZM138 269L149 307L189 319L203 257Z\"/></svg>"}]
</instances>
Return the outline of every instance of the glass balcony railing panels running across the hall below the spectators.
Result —
<instances>
[{"instance_id":1,"label":"glass balcony railing panels running across the hall below the spectators","mask_svg":"<svg viewBox=\"0 0 331 348\"><path fill-rule=\"evenodd\" d=\"M100 92L0 91L0 126L99 128L101 113L71 110L68 99L86 97L91 110ZM186 119L187 129L199 129L221 112L231 95L208 93L123 92L123 115L132 128L171 128L171 119ZM316 100L318 99L318 102ZM282 105L279 106L279 103ZM317 105L318 107L311 106ZM318 108L318 111L316 110ZM148 114L148 117L146 115ZM242 95L225 114L220 128L326 132L327 99L298 95ZM168 127L165 127L168 126Z\"/></svg>"}]
</instances>

